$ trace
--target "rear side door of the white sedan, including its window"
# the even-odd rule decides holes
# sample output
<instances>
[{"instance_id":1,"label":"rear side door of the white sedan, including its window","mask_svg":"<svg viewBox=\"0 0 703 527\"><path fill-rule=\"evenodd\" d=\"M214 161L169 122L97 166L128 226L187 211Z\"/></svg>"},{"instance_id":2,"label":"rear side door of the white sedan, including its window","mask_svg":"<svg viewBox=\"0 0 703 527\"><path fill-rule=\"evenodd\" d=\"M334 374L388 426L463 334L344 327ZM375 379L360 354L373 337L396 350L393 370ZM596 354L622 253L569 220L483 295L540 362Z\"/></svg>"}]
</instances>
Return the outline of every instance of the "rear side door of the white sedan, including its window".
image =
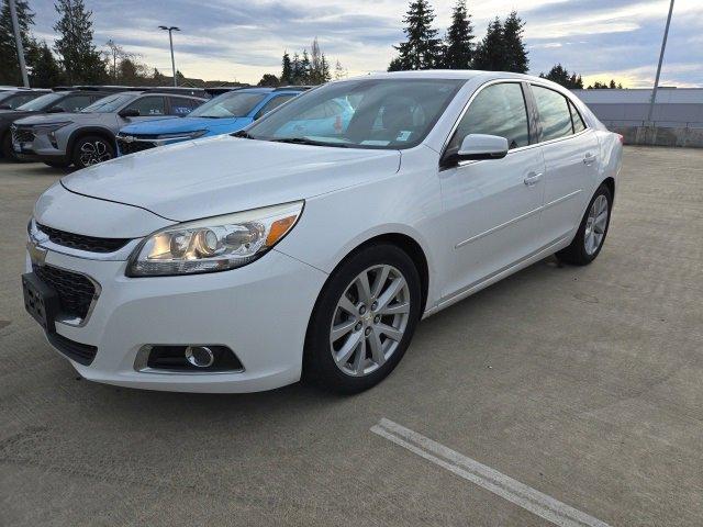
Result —
<instances>
[{"instance_id":1,"label":"rear side door of the white sedan, including its window","mask_svg":"<svg viewBox=\"0 0 703 527\"><path fill-rule=\"evenodd\" d=\"M531 89L545 158L545 204L539 232L547 244L570 235L579 225L591 198L600 147L595 132L585 126L567 97L536 83Z\"/></svg>"}]
</instances>

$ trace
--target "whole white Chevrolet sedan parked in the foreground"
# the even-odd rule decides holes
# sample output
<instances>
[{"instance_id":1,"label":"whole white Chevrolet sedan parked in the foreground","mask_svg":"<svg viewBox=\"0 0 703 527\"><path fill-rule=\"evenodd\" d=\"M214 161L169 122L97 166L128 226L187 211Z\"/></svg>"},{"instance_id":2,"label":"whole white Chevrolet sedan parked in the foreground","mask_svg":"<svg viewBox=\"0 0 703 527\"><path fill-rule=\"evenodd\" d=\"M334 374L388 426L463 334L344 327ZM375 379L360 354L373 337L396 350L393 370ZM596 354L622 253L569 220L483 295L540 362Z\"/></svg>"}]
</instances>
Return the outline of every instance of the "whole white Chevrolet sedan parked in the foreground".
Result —
<instances>
[{"instance_id":1,"label":"whole white Chevrolet sedan parked in the foreground","mask_svg":"<svg viewBox=\"0 0 703 527\"><path fill-rule=\"evenodd\" d=\"M348 120L305 132L341 100ZM421 318L553 254L593 261L621 159L622 137L544 79L332 82L234 136L51 187L29 224L25 306L93 381L357 392Z\"/></svg>"}]
</instances>

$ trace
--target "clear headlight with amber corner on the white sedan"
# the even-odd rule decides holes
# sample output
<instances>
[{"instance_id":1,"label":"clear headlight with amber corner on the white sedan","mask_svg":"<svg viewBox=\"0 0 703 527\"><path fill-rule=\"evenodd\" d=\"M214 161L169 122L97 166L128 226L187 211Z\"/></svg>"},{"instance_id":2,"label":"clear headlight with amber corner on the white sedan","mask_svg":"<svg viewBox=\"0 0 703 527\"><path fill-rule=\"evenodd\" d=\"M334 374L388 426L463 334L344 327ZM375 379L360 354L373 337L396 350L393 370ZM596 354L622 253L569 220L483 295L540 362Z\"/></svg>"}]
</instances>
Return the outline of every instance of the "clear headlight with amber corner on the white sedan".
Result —
<instances>
[{"instance_id":1,"label":"clear headlight with amber corner on the white sedan","mask_svg":"<svg viewBox=\"0 0 703 527\"><path fill-rule=\"evenodd\" d=\"M129 277L225 271L274 247L298 222L303 201L181 223L144 238L130 258Z\"/></svg>"}]
</instances>

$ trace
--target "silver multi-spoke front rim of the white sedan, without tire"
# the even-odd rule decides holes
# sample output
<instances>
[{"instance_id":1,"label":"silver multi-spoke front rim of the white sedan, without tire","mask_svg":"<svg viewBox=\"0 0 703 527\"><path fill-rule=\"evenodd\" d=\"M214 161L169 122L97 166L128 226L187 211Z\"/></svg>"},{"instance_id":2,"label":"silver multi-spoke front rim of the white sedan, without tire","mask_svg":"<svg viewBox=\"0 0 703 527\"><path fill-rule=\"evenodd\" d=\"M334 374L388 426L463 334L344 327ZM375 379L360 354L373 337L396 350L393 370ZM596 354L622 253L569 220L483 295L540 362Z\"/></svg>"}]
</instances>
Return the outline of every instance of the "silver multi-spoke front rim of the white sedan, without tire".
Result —
<instances>
[{"instance_id":1,"label":"silver multi-spoke front rim of the white sedan, without tire","mask_svg":"<svg viewBox=\"0 0 703 527\"><path fill-rule=\"evenodd\" d=\"M330 327L335 365L352 377L378 370L395 352L410 316L410 288L393 266L359 273L337 302Z\"/></svg>"}]
</instances>

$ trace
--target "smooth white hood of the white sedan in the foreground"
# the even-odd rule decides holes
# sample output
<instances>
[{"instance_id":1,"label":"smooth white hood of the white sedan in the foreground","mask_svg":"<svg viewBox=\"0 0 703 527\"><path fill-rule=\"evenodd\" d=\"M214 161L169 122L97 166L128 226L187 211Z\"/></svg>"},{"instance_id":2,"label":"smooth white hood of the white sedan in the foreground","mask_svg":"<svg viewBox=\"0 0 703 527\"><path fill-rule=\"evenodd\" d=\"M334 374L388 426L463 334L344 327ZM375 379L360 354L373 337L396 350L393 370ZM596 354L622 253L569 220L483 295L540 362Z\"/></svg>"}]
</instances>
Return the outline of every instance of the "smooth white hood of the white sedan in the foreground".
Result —
<instances>
[{"instance_id":1,"label":"smooth white hood of the white sedan in the foreground","mask_svg":"<svg viewBox=\"0 0 703 527\"><path fill-rule=\"evenodd\" d=\"M216 136L119 157L62 180L72 192L188 221L311 198L395 173L399 150Z\"/></svg>"}]
</instances>

